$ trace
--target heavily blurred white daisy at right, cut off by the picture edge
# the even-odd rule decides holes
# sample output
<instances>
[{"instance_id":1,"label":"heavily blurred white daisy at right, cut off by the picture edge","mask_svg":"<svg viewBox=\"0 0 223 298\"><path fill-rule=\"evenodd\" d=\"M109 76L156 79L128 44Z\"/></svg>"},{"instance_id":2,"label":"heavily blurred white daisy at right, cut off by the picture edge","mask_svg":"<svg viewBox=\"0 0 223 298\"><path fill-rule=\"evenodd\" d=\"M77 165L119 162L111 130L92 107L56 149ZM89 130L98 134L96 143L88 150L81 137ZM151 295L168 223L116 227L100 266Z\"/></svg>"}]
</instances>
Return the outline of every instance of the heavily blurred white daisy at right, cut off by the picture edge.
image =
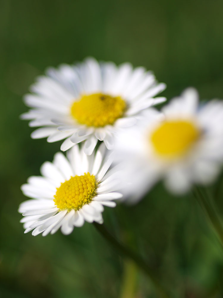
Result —
<instances>
[{"instance_id":1,"label":"heavily blurred white daisy at right, cut off by the picture edge","mask_svg":"<svg viewBox=\"0 0 223 298\"><path fill-rule=\"evenodd\" d=\"M130 201L161 178L171 192L185 193L193 183L212 182L222 165L223 101L199 105L197 91L188 88L161 111L150 109L150 122L144 119L119 136L115 156L134 175Z\"/></svg>"}]
</instances>

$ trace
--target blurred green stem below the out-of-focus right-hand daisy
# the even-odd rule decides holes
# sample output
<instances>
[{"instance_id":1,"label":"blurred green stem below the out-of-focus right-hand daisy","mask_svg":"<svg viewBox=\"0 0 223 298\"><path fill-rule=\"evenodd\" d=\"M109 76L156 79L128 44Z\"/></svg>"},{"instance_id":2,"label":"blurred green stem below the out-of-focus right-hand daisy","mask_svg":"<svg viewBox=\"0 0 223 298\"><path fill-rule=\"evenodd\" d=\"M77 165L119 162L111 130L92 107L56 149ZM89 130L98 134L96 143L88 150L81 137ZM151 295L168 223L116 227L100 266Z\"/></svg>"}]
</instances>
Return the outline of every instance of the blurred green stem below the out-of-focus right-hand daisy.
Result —
<instances>
[{"instance_id":1,"label":"blurred green stem below the out-of-focus right-hand daisy","mask_svg":"<svg viewBox=\"0 0 223 298\"><path fill-rule=\"evenodd\" d=\"M197 202L207 215L209 221L211 222L223 247L223 226L216 211L216 207L214 206L213 200L211 200L207 194L204 194L198 187L194 187L194 190L192 192Z\"/></svg>"}]
</instances>

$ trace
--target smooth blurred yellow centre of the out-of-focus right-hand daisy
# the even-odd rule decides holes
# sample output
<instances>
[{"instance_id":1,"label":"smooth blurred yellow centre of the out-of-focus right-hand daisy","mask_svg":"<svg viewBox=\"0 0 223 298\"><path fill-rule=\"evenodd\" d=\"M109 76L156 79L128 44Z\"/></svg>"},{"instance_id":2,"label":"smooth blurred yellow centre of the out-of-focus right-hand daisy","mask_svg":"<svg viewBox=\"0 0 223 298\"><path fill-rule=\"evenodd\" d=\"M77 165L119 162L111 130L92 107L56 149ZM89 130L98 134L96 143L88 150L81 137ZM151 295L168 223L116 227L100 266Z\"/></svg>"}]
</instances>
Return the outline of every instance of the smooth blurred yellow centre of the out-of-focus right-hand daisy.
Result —
<instances>
[{"instance_id":1,"label":"smooth blurred yellow centre of the out-of-focus right-hand daisy","mask_svg":"<svg viewBox=\"0 0 223 298\"><path fill-rule=\"evenodd\" d=\"M199 136L200 131L193 122L172 120L162 122L153 131L151 142L158 155L174 158L186 153Z\"/></svg>"}]
</instances>

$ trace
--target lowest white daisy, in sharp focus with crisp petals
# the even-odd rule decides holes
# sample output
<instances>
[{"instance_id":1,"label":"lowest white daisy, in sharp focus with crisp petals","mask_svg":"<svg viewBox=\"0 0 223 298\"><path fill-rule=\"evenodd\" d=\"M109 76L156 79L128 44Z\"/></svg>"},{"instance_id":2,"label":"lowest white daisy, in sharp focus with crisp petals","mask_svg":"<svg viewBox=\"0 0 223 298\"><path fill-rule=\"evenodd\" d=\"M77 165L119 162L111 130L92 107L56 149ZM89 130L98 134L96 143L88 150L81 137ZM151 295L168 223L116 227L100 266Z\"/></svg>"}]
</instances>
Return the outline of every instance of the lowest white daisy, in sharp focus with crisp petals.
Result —
<instances>
[{"instance_id":1,"label":"lowest white daisy, in sharp focus with crisp petals","mask_svg":"<svg viewBox=\"0 0 223 298\"><path fill-rule=\"evenodd\" d=\"M112 156L105 155L102 143L98 150L87 156L83 148L74 146L67 158L58 152L53 162L45 162L40 171L43 176L31 176L21 189L32 198L20 204L25 233L54 234L59 228L70 234L74 226L84 221L103 223L103 205L115 207L112 200L122 197L116 192L119 180L117 170L110 168Z\"/></svg>"}]
</instances>

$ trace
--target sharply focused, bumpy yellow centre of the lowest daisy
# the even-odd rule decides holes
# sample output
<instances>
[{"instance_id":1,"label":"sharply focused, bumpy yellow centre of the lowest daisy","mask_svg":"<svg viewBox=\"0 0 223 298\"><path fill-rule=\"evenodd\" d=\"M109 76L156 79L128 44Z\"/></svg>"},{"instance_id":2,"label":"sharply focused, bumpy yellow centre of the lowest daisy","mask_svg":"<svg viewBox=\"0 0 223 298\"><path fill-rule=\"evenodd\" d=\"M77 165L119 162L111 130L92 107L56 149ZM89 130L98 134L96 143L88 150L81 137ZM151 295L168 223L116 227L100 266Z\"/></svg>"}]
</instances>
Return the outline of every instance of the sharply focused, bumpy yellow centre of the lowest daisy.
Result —
<instances>
[{"instance_id":1,"label":"sharply focused, bumpy yellow centre of the lowest daisy","mask_svg":"<svg viewBox=\"0 0 223 298\"><path fill-rule=\"evenodd\" d=\"M83 205L92 201L97 186L95 176L84 173L82 176L71 177L70 180L61 183L54 195L54 202L60 210L79 210Z\"/></svg>"}]
</instances>

